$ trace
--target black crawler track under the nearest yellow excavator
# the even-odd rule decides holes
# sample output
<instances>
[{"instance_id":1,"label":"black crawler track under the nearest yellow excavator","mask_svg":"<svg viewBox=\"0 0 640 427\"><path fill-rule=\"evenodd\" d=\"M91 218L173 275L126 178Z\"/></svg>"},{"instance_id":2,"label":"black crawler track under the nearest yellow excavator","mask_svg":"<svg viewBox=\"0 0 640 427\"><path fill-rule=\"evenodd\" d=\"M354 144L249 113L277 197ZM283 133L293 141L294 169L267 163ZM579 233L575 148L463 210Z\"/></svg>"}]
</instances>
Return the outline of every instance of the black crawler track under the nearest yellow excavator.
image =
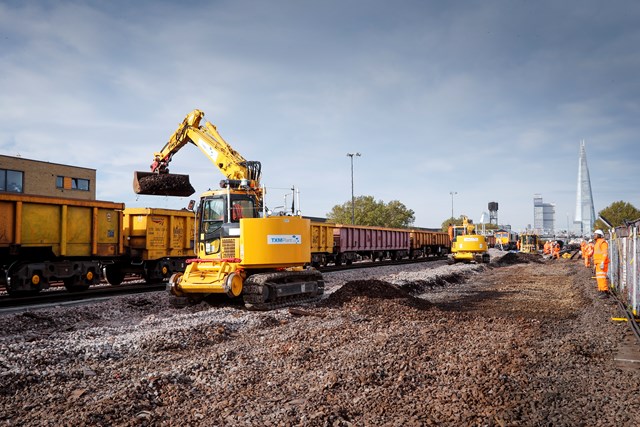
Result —
<instances>
[{"instance_id":1,"label":"black crawler track under the nearest yellow excavator","mask_svg":"<svg viewBox=\"0 0 640 427\"><path fill-rule=\"evenodd\" d=\"M316 270L278 271L249 276L242 289L249 310L274 310L319 301L324 293L322 274Z\"/></svg>"}]
</instances>

